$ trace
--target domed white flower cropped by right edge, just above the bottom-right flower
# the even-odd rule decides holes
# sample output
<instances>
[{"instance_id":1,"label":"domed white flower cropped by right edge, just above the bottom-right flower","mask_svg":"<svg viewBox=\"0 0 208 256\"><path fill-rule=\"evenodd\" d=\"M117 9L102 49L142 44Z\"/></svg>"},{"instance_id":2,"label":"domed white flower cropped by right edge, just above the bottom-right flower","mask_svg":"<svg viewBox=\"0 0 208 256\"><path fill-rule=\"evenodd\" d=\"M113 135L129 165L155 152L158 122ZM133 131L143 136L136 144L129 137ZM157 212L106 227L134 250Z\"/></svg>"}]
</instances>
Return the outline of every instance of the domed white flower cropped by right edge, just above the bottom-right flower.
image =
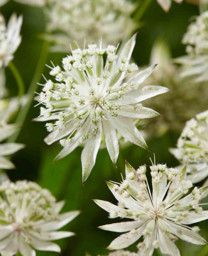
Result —
<instances>
[{"instance_id":1,"label":"domed white flower cropped by right edge, just above the bottom-right flower","mask_svg":"<svg viewBox=\"0 0 208 256\"><path fill-rule=\"evenodd\" d=\"M188 178L193 183L208 176L208 110L188 121L182 131L177 148L170 152L187 165Z\"/></svg>"}]
</instances>

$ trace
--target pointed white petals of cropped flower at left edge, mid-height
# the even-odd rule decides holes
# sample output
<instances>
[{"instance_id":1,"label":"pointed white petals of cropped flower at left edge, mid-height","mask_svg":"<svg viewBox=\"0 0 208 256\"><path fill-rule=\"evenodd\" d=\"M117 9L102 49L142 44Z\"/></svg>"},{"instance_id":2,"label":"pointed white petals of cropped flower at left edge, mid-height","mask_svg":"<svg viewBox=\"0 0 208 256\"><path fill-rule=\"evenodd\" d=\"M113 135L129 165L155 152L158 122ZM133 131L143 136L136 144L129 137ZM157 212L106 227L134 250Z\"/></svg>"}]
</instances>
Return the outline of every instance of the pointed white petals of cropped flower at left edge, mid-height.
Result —
<instances>
[{"instance_id":1,"label":"pointed white petals of cropped flower at left edge, mid-height","mask_svg":"<svg viewBox=\"0 0 208 256\"><path fill-rule=\"evenodd\" d=\"M19 125L0 123L0 142L10 137L19 129ZM6 158L24 148L21 143L0 143L0 169L14 169L14 164Z\"/></svg>"}]
</instances>

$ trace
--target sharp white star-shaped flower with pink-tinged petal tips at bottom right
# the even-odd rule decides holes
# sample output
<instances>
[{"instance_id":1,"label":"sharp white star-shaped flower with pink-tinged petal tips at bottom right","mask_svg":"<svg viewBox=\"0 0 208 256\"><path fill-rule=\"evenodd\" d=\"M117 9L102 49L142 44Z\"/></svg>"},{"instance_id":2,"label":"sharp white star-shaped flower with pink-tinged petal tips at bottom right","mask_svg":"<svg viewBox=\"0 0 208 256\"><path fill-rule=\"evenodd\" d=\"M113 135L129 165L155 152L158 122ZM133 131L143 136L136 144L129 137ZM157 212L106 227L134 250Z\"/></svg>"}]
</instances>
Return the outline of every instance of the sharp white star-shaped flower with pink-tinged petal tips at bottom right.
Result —
<instances>
[{"instance_id":1,"label":"sharp white star-shaped flower with pink-tinged petal tips at bottom right","mask_svg":"<svg viewBox=\"0 0 208 256\"><path fill-rule=\"evenodd\" d=\"M140 166L136 171L126 162L126 179L121 183L107 182L118 205L94 200L110 218L133 219L100 226L114 232L127 231L115 238L108 249L126 248L141 236L144 240L137 245L138 255L151 256L155 248L160 248L164 254L179 256L174 244L177 238L205 245L207 242L199 235L199 228L188 225L208 219L208 211L203 211L200 204L208 187L195 187L189 193L192 182L186 180L186 168L179 170L165 164L152 164L150 170L152 189L147 181L146 166Z\"/></svg>"}]
</instances>

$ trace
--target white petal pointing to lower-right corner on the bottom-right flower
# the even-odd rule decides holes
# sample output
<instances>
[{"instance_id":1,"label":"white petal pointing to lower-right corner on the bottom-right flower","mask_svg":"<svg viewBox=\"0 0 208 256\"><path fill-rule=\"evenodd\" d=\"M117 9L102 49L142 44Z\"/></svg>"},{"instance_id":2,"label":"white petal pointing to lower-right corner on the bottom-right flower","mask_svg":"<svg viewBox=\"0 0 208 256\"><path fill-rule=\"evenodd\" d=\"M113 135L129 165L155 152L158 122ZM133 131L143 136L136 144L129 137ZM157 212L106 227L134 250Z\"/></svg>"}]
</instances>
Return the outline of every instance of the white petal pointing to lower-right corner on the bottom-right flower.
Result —
<instances>
[{"instance_id":1,"label":"white petal pointing to lower-right corner on the bottom-right flower","mask_svg":"<svg viewBox=\"0 0 208 256\"><path fill-rule=\"evenodd\" d=\"M182 240L195 245L205 245L207 243L201 235L192 230L189 230L188 228L182 227L169 221L165 223L168 225L168 231Z\"/></svg>"}]
</instances>

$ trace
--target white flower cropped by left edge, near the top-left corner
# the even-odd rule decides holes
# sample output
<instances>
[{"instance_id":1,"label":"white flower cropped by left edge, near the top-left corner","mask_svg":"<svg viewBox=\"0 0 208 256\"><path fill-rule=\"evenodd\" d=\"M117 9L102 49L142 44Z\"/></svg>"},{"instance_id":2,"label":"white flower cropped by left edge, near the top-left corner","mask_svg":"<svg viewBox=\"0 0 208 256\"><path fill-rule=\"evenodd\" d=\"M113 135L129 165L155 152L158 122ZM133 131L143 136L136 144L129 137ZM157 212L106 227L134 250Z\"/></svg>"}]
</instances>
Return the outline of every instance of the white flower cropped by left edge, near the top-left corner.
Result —
<instances>
[{"instance_id":1,"label":"white flower cropped by left edge, near the top-left corner","mask_svg":"<svg viewBox=\"0 0 208 256\"><path fill-rule=\"evenodd\" d=\"M12 14L6 26L2 14L0 14L0 69L7 66L13 59L13 54L17 50L20 42L20 29L22 25L22 16L17 18L17 15Z\"/></svg>"}]
</instances>

